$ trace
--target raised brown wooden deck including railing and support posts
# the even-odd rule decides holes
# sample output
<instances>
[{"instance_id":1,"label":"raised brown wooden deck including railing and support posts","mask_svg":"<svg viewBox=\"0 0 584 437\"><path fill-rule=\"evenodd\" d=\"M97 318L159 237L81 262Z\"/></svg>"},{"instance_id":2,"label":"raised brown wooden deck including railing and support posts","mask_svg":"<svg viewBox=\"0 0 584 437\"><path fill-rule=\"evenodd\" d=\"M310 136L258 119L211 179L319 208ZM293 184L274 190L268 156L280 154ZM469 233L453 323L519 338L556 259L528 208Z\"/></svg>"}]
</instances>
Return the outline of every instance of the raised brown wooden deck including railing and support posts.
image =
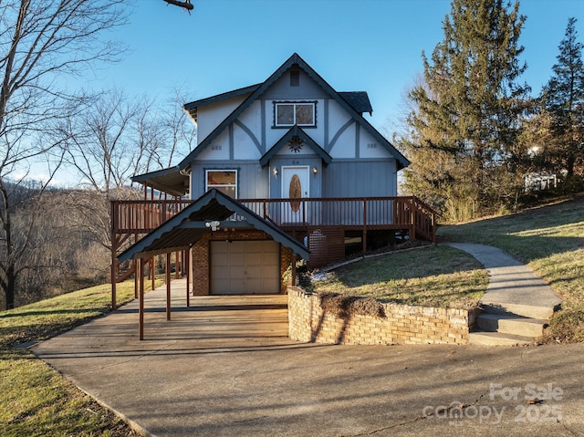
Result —
<instances>
[{"instance_id":1,"label":"raised brown wooden deck including railing and support posts","mask_svg":"<svg viewBox=\"0 0 584 437\"><path fill-rule=\"evenodd\" d=\"M310 250L308 267L338 262L345 257L346 237L360 236L362 252L368 247L368 233L395 231L410 240L435 242L436 213L416 197L363 197L334 199L240 199L251 211L302 240ZM112 307L116 307L116 282L137 271L134 261L122 266L117 256L126 246L180 213L192 201L140 200L111 202ZM235 214L228 220L241 220ZM154 258L146 260L154 287ZM167 255L167 265L171 255ZM174 254L175 276L188 276L189 252ZM179 266L182 272L179 272ZM170 268L167 266L167 268ZM170 275L167 273L167 275ZM135 290L138 296L137 288Z\"/></svg>"}]
</instances>

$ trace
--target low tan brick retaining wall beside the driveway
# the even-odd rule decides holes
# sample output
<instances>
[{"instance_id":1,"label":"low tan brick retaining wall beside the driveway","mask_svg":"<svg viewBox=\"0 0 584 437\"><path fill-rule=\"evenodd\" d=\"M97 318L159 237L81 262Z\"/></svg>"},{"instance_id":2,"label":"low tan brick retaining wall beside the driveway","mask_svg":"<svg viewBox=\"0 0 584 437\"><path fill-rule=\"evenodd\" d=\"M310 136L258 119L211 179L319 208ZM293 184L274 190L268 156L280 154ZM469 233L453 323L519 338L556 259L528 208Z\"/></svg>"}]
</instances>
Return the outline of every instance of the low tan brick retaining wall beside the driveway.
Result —
<instances>
[{"instance_id":1,"label":"low tan brick retaining wall beside the driveway","mask_svg":"<svg viewBox=\"0 0 584 437\"><path fill-rule=\"evenodd\" d=\"M474 311L382 304L385 317L325 314L320 297L288 287L288 330L293 340L347 345L464 344Z\"/></svg>"}]
</instances>

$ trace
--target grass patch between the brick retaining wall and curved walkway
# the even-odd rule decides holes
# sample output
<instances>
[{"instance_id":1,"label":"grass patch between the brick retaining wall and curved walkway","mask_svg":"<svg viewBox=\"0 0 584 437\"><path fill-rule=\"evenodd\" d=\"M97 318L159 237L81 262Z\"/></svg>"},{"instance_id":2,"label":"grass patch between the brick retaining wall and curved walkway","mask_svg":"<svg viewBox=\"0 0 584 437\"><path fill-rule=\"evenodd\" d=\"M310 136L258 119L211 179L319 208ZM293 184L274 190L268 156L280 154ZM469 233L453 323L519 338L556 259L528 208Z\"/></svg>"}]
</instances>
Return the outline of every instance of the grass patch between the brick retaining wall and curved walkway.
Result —
<instances>
[{"instance_id":1,"label":"grass patch between the brick retaining wall and curved walkway","mask_svg":"<svg viewBox=\"0 0 584 437\"><path fill-rule=\"evenodd\" d=\"M475 307L488 286L483 266L449 246L391 252L345 265L313 282L317 293L374 297L424 307Z\"/></svg>"}]
</instances>

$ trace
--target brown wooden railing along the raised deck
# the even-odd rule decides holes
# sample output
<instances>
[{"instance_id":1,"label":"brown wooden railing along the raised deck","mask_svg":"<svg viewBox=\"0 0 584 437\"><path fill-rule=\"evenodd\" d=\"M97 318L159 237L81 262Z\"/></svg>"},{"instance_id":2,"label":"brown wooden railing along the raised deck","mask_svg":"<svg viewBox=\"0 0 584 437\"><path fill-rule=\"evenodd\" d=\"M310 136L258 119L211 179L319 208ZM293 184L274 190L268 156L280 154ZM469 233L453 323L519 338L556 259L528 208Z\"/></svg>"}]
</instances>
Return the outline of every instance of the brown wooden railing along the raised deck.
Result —
<instances>
[{"instance_id":1,"label":"brown wooden railing along the raised deck","mask_svg":"<svg viewBox=\"0 0 584 437\"><path fill-rule=\"evenodd\" d=\"M346 229L407 229L411 238L435 241L436 213L413 196L362 198L240 199L254 213L284 230L308 226ZM192 201L112 201L115 234L147 234ZM238 220L235 215L230 220Z\"/></svg>"}]
</instances>

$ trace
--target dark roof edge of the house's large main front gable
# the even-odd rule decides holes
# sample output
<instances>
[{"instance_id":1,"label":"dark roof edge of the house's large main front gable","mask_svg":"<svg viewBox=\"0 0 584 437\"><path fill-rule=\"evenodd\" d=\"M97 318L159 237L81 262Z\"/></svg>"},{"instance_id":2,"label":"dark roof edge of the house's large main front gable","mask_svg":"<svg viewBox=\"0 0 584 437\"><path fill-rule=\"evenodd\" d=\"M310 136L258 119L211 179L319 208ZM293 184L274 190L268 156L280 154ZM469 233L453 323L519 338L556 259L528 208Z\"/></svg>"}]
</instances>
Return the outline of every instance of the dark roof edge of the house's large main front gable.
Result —
<instances>
[{"instance_id":1,"label":"dark roof edge of the house's large main front gable","mask_svg":"<svg viewBox=\"0 0 584 437\"><path fill-rule=\"evenodd\" d=\"M336 99L337 102L339 103L339 105L347 110L349 112L349 114L351 114L352 118L354 120L357 120L360 123L360 126L364 129L367 130L370 135L375 138L375 140L378 140L381 145L383 147L385 147L385 149L387 149L388 151L390 151L390 153L395 156L396 161L398 162L398 170L402 169L403 167L406 167L410 164L410 161L408 161L402 154L400 151L398 151L397 149L395 149L395 147L393 147L393 145L391 144L390 141L388 141L387 139L385 139L385 137L383 137L383 135L381 135L381 133L376 130L373 126L371 126L371 124L363 119L363 117L360 115L360 113L358 111L356 111L350 104L349 102L342 98L339 93L337 91L335 91L334 88L332 88L330 85L328 85L328 82L321 78L320 75L318 75L318 73L311 68L304 59L302 59L302 57L300 57L297 53L293 54L291 57L288 57L287 61L282 64L280 66L280 68L277 68L276 71L274 73L272 73L272 75L266 79L265 82L263 82L262 84L260 84L257 88L255 88L255 90L252 92L252 94L250 94L247 99L245 99L241 105L239 105L237 108L235 108L235 110L227 117L225 118L202 142L199 143L199 145L197 145L197 147L194 148L193 151L191 151L191 153L189 153L184 159L183 161L181 161L179 163L179 169L180 170L184 170L186 167L188 167L191 162L199 155L199 153L201 153L204 149L206 149L207 146L209 146L211 144L211 142L217 138L218 135L220 135L225 129L227 129L227 127L235 122L235 120L237 120L237 118L242 114L242 112L249 108L251 106L251 104L255 101L255 99L259 99L261 97L262 94L264 94L264 92L266 92L266 89L269 88L272 84L274 84L274 82L276 82L276 80L278 78L280 78L289 68L292 68L292 66L297 65L299 68L302 68L310 78L312 78L315 82L318 83L318 85L326 92L328 93L328 95L333 98ZM255 86L254 86L255 87ZM243 89L243 88L242 88ZM350 98L349 98L350 99Z\"/></svg>"}]
</instances>

